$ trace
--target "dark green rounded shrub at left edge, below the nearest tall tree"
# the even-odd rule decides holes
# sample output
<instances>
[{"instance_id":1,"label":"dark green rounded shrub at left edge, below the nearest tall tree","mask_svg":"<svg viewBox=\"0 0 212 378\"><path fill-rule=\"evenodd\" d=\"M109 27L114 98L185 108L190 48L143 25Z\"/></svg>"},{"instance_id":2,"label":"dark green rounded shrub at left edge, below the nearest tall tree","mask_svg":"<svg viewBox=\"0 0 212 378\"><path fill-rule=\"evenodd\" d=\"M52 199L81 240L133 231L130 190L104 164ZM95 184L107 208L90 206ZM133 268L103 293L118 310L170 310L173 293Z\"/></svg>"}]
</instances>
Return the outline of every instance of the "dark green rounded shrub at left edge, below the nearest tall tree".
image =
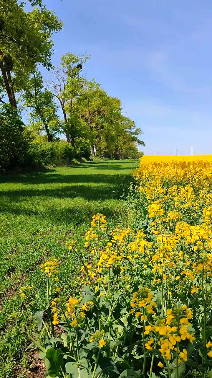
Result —
<instances>
[{"instance_id":1,"label":"dark green rounded shrub at left edge, below the nearest tall tree","mask_svg":"<svg viewBox=\"0 0 212 378\"><path fill-rule=\"evenodd\" d=\"M0 109L0 171L23 167L27 160L30 136L11 105Z\"/></svg>"}]
</instances>

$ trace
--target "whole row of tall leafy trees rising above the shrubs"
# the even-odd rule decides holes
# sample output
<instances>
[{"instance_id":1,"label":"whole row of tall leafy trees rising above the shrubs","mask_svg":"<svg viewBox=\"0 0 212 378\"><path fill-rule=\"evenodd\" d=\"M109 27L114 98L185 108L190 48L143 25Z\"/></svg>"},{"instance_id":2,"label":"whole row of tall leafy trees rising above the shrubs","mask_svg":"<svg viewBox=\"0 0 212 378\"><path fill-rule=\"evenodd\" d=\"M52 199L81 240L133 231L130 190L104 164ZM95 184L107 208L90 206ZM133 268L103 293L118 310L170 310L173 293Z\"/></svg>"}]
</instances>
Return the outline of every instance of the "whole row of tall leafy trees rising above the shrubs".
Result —
<instances>
[{"instance_id":1,"label":"whole row of tall leafy trees rising above the shrubs","mask_svg":"<svg viewBox=\"0 0 212 378\"><path fill-rule=\"evenodd\" d=\"M31 11L24 6L31 3ZM51 143L61 137L77 153L88 144L92 156L134 158L145 146L135 122L122 113L120 99L109 96L93 78L83 75L90 57L65 53L57 67L51 63L52 34L63 23L42 0L0 0L0 102L20 118L29 116L34 139ZM49 70L43 77L38 65ZM7 100L8 99L8 100Z\"/></svg>"}]
</instances>

